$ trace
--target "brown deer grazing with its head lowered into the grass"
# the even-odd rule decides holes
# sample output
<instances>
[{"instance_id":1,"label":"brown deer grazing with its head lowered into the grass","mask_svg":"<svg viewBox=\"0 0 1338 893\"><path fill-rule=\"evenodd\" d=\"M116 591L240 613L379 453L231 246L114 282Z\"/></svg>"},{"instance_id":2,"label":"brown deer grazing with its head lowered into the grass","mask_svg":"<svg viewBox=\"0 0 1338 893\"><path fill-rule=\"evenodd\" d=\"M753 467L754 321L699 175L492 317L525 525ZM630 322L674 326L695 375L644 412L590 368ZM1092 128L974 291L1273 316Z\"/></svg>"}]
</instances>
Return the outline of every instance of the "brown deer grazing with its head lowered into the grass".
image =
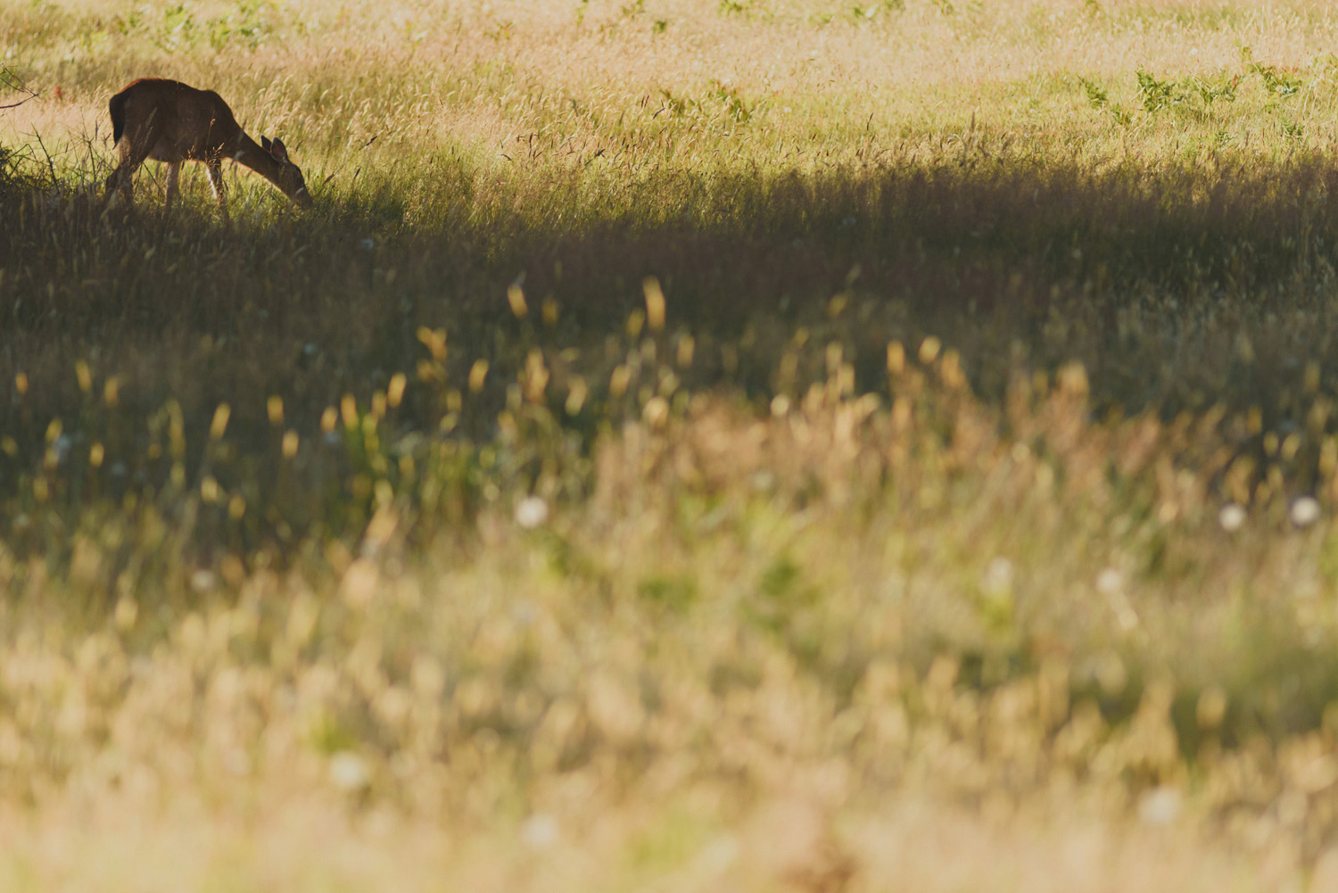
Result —
<instances>
[{"instance_id":1,"label":"brown deer grazing with its head lowered into the grass","mask_svg":"<svg viewBox=\"0 0 1338 893\"><path fill-rule=\"evenodd\" d=\"M134 197L131 179L135 170L146 158L153 158L167 162L167 197L163 202L167 210L177 197L181 162L202 161L226 221L223 158L231 158L278 186L298 205L309 208L312 204L302 171L289 161L284 142L261 137L262 145L257 146L233 118L233 110L213 90L145 78L112 96L108 108L120 163L107 178L104 202L110 202L119 190L128 206Z\"/></svg>"}]
</instances>

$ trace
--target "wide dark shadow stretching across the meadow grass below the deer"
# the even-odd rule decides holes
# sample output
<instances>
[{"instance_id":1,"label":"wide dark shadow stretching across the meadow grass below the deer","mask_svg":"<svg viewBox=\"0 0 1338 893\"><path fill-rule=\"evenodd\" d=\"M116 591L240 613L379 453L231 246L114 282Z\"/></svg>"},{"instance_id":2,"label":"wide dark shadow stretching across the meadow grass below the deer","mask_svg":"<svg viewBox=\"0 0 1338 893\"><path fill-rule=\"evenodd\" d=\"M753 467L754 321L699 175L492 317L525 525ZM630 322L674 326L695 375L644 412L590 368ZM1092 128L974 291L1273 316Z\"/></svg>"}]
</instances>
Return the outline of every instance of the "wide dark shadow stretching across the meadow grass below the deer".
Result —
<instances>
[{"instance_id":1,"label":"wide dark shadow stretching across the meadow grass below the deer","mask_svg":"<svg viewBox=\"0 0 1338 893\"><path fill-rule=\"evenodd\" d=\"M1222 404L1223 442L1258 453L1260 475L1268 432L1333 428L1315 415L1335 335L1338 169L1325 159L981 159L617 189L541 173L443 161L411 187L372 182L310 216L242 209L231 228L202 209L163 218L151 198L103 218L87 197L4 193L7 548L60 573L72 530L120 517L108 581L136 561L301 561L361 536L383 486L448 522L472 519L490 486L529 493L547 477L579 497L593 440L652 395L714 390L760 408L826 383L834 356L855 391L886 394L888 343L914 364L929 335L986 406L1070 360L1088 368L1090 416ZM668 297L662 331L648 276ZM1303 486L1321 450L1293 457ZM1321 722L1335 671L1294 636L1283 623L1244 649L1231 734ZM1297 687L1284 708L1252 700L1260 679ZM1140 680L1119 696L1084 684L1074 695L1112 722L1136 712ZM1192 751L1184 692L1175 719Z\"/></svg>"}]
</instances>

